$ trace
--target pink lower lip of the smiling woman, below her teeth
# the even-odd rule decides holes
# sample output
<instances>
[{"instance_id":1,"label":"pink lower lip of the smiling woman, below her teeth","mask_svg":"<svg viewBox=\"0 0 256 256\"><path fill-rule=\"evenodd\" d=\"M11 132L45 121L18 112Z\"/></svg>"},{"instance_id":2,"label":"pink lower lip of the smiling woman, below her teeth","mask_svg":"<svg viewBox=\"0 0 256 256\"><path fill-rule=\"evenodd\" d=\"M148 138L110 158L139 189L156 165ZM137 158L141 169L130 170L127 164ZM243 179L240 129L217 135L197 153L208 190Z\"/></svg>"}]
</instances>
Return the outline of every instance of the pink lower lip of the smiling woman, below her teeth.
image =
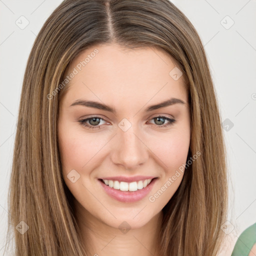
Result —
<instances>
[{"instance_id":1,"label":"pink lower lip of the smiling woman, below her teeth","mask_svg":"<svg viewBox=\"0 0 256 256\"><path fill-rule=\"evenodd\" d=\"M112 198L120 202L136 202L144 198L150 192L156 179L157 178L153 178L146 187L138 189L137 191L121 191L119 189L117 190L106 185L100 179L98 179L98 181L104 188L105 192Z\"/></svg>"}]
</instances>

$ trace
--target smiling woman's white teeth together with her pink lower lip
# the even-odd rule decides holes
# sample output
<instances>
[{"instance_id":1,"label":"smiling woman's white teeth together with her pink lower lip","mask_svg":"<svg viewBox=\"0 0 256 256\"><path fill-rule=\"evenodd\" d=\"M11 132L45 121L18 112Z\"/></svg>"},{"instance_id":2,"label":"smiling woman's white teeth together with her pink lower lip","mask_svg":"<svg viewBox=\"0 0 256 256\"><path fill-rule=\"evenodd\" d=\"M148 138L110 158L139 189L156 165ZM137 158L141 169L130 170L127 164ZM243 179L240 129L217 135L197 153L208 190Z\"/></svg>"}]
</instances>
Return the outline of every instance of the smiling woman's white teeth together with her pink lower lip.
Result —
<instances>
[{"instance_id":1,"label":"smiling woman's white teeth together with her pink lower lip","mask_svg":"<svg viewBox=\"0 0 256 256\"><path fill-rule=\"evenodd\" d=\"M106 192L106 194L108 194L110 197L121 202L135 202L141 200L150 192L157 179L157 177L154 177L149 180L144 179L143 181L138 180L133 182L119 182L117 180L100 178L98 181L103 188L103 191ZM142 188L140 181L142 182Z\"/></svg>"}]
</instances>

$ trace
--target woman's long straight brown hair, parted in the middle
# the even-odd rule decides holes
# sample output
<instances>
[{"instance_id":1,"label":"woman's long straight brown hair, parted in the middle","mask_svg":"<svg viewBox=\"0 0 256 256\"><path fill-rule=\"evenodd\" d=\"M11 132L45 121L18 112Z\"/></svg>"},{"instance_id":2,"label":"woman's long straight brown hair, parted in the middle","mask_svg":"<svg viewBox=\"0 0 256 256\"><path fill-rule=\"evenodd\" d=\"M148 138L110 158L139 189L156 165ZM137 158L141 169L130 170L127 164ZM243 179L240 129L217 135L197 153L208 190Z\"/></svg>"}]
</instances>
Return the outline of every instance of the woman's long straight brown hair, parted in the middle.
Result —
<instances>
[{"instance_id":1,"label":"woman's long straight brown hair, parted in the middle","mask_svg":"<svg viewBox=\"0 0 256 256\"><path fill-rule=\"evenodd\" d=\"M191 123L187 159L201 154L162 209L160 255L214 256L227 210L219 109L201 40L169 0L64 0L43 24L25 69L14 144L8 234L14 232L15 255L86 255L61 176L57 121L68 84L59 84L82 50L112 42L157 47L183 72Z\"/></svg>"}]
</instances>

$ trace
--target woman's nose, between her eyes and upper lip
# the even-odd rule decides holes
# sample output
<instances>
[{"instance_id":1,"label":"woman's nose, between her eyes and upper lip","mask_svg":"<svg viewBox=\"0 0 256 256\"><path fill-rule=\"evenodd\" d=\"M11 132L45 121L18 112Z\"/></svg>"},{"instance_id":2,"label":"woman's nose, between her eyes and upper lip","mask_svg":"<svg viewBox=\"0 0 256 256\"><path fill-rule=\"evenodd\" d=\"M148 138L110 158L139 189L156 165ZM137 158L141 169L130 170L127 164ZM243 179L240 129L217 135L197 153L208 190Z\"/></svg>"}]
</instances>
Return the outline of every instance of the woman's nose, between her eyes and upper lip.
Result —
<instances>
[{"instance_id":1,"label":"woman's nose, between her eyes and upper lip","mask_svg":"<svg viewBox=\"0 0 256 256\"><path fill-rule=\"evenodd\" d=\"M112 161L125 169L140 167L148 158L148 148L143 141L144 136L133 127L134 125L131 125L126 131L118 128L113 141Z\"/></svg>"}]
</instances>

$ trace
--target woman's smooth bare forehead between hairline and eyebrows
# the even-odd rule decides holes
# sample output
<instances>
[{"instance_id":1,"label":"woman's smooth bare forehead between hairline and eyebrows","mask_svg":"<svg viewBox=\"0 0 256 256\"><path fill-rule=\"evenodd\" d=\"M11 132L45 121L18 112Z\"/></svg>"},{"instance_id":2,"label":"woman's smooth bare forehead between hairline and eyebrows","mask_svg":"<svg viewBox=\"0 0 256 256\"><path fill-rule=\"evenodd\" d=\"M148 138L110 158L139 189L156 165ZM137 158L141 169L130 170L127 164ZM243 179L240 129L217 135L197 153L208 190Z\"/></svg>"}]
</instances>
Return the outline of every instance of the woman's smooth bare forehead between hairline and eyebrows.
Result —
<instances>
[{"instance_id":1,"label":"woman's smooth bare forehead between hairline and eyebrows","mask_svg":"<svg viewBox=\"0 0 256 256\"><path fill-rule=\"evenodd\" d=\"M181 97L187 100L184 79L173 79L171 72L178 68L176 61L156 47L125 48L118 44L99 44L82 51L66 69L75 71L68 83L69 97L88 94L110 101L139 100L152 97ZM110 98L109 98L110 97Z\"/></svg>"}]
</instances>

